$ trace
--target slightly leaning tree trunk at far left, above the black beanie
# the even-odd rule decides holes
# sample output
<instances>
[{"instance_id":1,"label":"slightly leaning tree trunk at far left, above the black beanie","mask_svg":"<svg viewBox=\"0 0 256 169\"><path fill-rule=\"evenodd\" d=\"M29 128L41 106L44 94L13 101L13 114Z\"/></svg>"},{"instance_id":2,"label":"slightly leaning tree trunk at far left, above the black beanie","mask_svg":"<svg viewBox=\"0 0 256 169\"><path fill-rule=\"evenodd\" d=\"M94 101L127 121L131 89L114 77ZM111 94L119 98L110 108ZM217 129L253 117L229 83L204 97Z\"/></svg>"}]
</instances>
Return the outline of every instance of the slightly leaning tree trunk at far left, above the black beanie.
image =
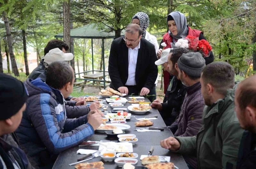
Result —
<instances>
[{"instance_id":1,"label":"slightly leaning tree trunk at far left, above the black beanie","mask_svg":"<svg viewBox=\"0 0 256 169\"><path fill-rule=\"evenodd\" d=\"M18 67L17 67L17 64L16 64L15 56L14 56L13 50L12 50L12 35L11 35L9 20L6 17L5 12L3 12L3 18L4 18L6 35L7 35L9 54L10 54L11 63L12 63L12 72L14 73L15 76L20 76L19 71L18 71Z\"/></svg>"}]
</instances>

